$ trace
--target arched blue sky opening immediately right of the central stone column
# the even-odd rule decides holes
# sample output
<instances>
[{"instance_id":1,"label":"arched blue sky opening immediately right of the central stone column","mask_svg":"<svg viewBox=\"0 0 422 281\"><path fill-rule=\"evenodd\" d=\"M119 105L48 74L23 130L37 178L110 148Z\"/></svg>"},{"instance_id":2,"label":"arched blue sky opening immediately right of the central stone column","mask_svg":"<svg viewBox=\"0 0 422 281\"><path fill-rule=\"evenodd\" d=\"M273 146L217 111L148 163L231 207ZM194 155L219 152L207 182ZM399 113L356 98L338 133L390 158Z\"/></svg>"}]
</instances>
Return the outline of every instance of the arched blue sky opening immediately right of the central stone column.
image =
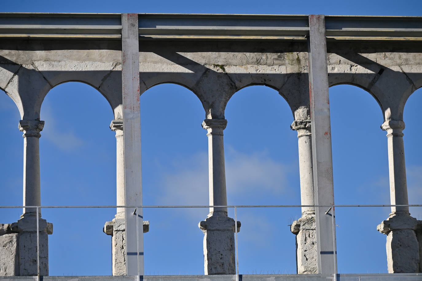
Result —
<instances>
[{"instance_id":1,"label":"arched blue sky opening immediately right of the central stone column","mask_svg":"<svg viewBox=\"0 0 422 281\"><path fill-rule=\"evenodd\" d=\"M261 114L262 107L266 107L263 112L265 115ZM228 205L300 205L298 135L290 129L291 107L280 97L279 90L266 85L243 87L230 98L225 108L225 117ZM247 201L247 196L251 197L250 201ZM239 235L239 243L245 245L243 249L239 248L239 256L246 254L246 249L249 254L265 256L284 247L285 254L291 257L291 262L284 266L296 270L295 235L285 227L270 223L274 220L287 221L289 216L295 216L291 213L296 211L300 213L300 208L289 211L285 208L254 208L250 212L238 208L241 232L259 235L260 241L265 241L258 246L254 241ZM234 217L234 214L229 213L229 217ZM271 224L277 237L264 233L262 227L257 227L258 221L258 224ZM284 241L283 246L280 241ZM255 264L251 262L246 261L243 266L264 266L260 262L257 265L256 260L253 261ZM277 261L273 261L265 266L277 268L278 265Z\"/></svg>"}]
</instances>

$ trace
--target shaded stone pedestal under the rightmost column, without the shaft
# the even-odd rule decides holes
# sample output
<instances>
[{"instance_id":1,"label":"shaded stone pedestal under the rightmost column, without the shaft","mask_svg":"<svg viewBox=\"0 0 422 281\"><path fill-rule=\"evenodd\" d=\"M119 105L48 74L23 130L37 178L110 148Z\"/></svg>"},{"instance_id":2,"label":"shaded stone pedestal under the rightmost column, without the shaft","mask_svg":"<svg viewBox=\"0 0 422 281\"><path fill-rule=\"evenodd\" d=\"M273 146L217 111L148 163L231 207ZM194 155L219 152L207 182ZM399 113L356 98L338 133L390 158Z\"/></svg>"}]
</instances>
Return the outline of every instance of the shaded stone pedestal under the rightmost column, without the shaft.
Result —
<instances>
[{"instance_id":1,"label":"shaded stone pedestal under the rightmost column, without the shaft","mask_svg":"<svg viewBox=\"0 0 422 281\"><path fill-rule=\"evenodd\" d=\"M403 214L391 214L377 226L387 235L388 273L417 273L419 270L419 243L416 232L417 220Z\"/></svg>"}]
</instances>

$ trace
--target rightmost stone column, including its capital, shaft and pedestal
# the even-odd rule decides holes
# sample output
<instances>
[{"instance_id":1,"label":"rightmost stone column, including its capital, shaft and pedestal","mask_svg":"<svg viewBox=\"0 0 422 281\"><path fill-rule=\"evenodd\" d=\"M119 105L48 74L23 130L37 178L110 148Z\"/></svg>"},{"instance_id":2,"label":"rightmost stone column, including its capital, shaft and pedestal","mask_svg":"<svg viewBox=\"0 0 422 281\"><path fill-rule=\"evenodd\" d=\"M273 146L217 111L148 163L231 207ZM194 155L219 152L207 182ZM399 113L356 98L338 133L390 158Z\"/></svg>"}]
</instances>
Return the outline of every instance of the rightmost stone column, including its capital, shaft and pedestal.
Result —
<instances>
[{"instance_id":1,"label":"rightmost stone column, including its capital, shaft and pedestal","mask_svg":"<svg viewBox=\"0 0 422 281\"><path fill-rule=\"evenodd\" d=\"M387 131L388 167L391 205L408 205L406 165L404 159L402 120L387 120L381 129ZM391 207L391 214L377 230L387 235L387 266L389 273L419 272L419 244L415 230L416 218L408 207Z\"/></svg>"}]
</instances>

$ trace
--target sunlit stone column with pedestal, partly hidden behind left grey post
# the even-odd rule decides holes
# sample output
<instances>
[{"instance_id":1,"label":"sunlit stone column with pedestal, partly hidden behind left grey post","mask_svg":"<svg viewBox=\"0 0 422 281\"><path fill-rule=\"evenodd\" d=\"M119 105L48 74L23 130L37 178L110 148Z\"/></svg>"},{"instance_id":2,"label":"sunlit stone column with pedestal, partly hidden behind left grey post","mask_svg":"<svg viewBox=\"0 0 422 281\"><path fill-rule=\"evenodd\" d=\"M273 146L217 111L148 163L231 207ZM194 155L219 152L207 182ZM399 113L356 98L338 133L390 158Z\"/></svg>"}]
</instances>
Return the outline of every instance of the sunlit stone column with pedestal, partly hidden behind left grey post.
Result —
<instances>
[{"instance_id":1,"label":"sunlit stone column with pedestal, partly hidden behind left grey post","mask_svg":"<svg viewBox=\"0 0 422 281\"><path fill-rule=\"evenodd\" d=\"M116 132L116 205L124 206L124 142L123 120L111 121L110 129ZM111 256L113 275L126 275L124 240L124 208L116 208L116 216L112 221L107 221L103 232L111 235ZM149 221L143 221L143 233L149 231Z\"/></svg>"}]
</instances>

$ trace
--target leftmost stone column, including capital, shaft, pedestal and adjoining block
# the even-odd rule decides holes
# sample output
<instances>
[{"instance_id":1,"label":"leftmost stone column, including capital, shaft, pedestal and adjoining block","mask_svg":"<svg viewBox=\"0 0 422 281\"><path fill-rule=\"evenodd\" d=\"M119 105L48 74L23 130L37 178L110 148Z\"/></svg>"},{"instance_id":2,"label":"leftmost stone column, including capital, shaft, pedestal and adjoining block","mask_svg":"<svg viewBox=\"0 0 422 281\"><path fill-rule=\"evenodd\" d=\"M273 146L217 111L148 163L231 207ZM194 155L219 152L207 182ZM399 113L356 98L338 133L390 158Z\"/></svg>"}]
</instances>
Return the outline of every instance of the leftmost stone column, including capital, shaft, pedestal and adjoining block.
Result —
<instances>
[{"instance_id":1,"label":"leftmost stone column, including capital, shaft, pedestal and adjoining block","mask_svg":"<svg viewBox=\"0 0 422 281\"><path fill-rule=\"evenodd\" d=\"M19 121L19 130L24 133L24 206L41 205L39 138L43 127L44 121ZM0 256L0 276L38 275L37 219L39 225L39 273L41 276L49 274L48 235L53 233L53 225L41 218L41 211L37 218L35 208L25 207L21 219L17 223L0 225L0 248L7 249Z\"/></svg>"}]
</instances>

